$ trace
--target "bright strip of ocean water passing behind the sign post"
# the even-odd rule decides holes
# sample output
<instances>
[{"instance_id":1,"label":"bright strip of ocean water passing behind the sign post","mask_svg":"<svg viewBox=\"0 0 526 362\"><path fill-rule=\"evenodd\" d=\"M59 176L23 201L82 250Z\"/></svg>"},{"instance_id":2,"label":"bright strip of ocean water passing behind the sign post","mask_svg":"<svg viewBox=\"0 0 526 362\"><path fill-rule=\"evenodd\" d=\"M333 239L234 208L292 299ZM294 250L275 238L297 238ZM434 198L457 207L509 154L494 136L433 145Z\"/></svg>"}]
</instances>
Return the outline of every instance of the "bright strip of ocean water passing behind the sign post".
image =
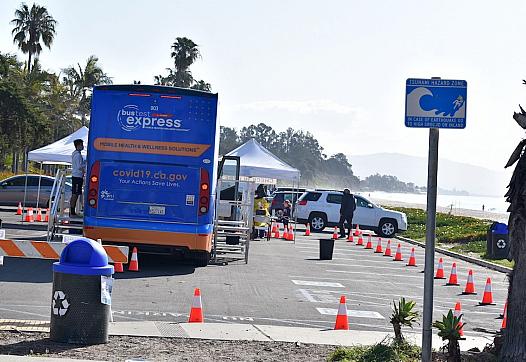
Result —
<instances>
[{"instance_id":1,"label":"bright strip of ocean water passing behind the sign post","mask_svg":"<svg viewBox=\"0 0 526 362\"><path fill-rule=\"evenodd\" d=\"M411 204L427 204L426 194L404 194L396 192L372 191L362 192L362 195L373 199L391 200L407 202ZM456 195L438 195L437 206L450 207L453 209L484 210L496 213L506 213L509 204L503 197L496 196L456 196Z\"/></svg>"}]
</instances>

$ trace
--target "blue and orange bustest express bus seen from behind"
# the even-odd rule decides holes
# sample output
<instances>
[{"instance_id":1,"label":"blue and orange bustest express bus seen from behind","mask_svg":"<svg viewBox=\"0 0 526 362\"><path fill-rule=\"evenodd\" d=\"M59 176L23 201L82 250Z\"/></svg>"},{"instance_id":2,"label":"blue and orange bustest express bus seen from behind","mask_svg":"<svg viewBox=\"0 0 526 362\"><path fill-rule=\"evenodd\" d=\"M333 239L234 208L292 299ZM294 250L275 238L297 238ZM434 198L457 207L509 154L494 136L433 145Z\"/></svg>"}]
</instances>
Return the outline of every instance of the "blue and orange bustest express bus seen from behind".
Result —
<instances>
[{"instance_id":1,"label":"blue and orange bustest express bus seen from behind","mask_svg":"<svg viewBox=\"0 0 526 362\"><path fill-rule=\"evenodd\" d=\"M217 94L164 86L93 90L84 234L210 259Z\"/></svg>"}]
</instances>

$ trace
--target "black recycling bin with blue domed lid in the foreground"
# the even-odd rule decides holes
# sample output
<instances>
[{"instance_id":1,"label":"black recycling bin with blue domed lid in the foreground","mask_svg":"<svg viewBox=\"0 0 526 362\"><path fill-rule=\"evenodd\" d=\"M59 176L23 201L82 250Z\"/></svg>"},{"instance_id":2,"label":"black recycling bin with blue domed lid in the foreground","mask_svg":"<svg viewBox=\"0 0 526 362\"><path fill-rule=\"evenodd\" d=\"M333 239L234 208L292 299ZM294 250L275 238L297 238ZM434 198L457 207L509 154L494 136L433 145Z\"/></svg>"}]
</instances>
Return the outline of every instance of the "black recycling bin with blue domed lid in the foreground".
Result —
<instances>
[{"instance_id":1,"label":"black recycling bin with blue domed lid in the foreground","mask_svg":"<svg viewBox=\"0 0 526 362\"><path fill-rule=\"evenodd\" d=\"M50 339L108 342L113 266L98 242L80 237L53 264Z\"/></svg>"}]
</instances>

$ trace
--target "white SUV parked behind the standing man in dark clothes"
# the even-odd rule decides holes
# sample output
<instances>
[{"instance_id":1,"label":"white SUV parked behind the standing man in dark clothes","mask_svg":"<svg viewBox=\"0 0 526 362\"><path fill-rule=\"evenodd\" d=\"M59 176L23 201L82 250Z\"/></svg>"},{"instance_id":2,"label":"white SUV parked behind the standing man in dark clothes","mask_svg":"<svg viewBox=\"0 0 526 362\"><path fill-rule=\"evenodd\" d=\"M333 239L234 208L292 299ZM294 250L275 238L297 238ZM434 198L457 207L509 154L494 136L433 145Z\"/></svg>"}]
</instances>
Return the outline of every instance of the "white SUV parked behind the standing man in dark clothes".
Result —
<instances>
[{"instance_id":1,"label":"white SUV parked behind the standing man in dark clothes","mask_svg":"<svg viewBox=\"0 0 526 362\"><path fill-rule=\"evenodd\" d=\"M392 237L407 230L407 216L403 212L384 209L361 195L354 195L356 210L353 224L372 230L383 237ZM299 223L309 223L312 231L336 226L340 220L341 191L306 191L298 200L295 216Z\"/></svg>"}]
</instances>

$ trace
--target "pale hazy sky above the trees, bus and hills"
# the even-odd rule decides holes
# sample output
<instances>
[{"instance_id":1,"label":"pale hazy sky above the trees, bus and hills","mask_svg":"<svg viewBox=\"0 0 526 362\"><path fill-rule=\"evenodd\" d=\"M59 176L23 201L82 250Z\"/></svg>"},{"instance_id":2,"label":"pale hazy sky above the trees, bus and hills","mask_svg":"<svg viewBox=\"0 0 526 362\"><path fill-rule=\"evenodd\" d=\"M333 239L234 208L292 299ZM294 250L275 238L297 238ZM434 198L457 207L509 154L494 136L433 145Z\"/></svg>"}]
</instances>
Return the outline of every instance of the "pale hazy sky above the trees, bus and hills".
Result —
<instances>
[{"instance_id":1,"label":"pale hazy sky above the trees, bus and hills","mask_svg":"<svg viewBox=\"0 0 526 362\"><path fill-rule=\"evenodd\" d=\"M29 3L32 4L32 3ZM468 83L467 127L441 130L441 158L502 170L524 136L526 2L39 1L58 21L40 60L58 72L94 54L115 84L153 84L186 36L191 70L219 94L220 122L310 131L331 155L427 156L428 130L404 126L407 78ZM24 57L0 2L0 51ZM408 165L411 167L411 165Z\"/></svg>"}]
</instances>

